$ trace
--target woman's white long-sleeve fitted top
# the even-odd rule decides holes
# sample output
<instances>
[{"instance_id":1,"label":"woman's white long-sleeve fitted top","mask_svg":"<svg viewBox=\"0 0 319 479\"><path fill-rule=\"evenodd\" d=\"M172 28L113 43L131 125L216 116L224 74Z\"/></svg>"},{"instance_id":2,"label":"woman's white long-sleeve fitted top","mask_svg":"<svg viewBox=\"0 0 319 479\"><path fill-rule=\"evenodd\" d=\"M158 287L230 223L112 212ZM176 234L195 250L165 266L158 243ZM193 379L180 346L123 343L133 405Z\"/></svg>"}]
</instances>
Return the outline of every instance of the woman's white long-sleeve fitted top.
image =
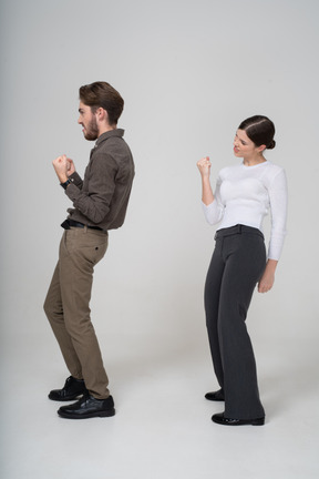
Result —
<instances>
[{"instance_id":1,"label":"woman's white long-sleeve fitted top","mask_svg":"<svg viewBox=\"0 0 319 479\"><path fill-rule=\"evenodd\" d=\"M203 203L209 224L220 223L217 230L244 224L263 232L264 217L270 211L271 233L269 259L279 259L286 235L287 181L285 170L269 161L255 166L223 169L217 177L215 200Z\"/></svg>"}]
</instances>

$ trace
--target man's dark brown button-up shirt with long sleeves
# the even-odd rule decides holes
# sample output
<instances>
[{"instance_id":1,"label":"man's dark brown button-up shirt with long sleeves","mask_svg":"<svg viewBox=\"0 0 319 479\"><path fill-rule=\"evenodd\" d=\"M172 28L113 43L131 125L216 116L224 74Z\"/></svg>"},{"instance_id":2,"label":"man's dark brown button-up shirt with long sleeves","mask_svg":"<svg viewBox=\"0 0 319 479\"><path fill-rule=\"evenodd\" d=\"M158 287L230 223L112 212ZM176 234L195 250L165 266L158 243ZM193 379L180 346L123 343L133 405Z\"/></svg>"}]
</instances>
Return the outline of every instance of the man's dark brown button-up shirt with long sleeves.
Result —
<instances>
[{"instance_id":1,"label":"man's dark brown button-up shirt with long sleeves","mask_svg":"<svg viewBox=\"0 0 319 479\"><path fill-rule=\"evenodd\" d=\"M84 180L75 172L65 194L73 202L69 218L102 230L115 230L124 223L134 177L134 161L125 143L124 130L99 136L91 151Z\"/></svg>"}]
</instances>

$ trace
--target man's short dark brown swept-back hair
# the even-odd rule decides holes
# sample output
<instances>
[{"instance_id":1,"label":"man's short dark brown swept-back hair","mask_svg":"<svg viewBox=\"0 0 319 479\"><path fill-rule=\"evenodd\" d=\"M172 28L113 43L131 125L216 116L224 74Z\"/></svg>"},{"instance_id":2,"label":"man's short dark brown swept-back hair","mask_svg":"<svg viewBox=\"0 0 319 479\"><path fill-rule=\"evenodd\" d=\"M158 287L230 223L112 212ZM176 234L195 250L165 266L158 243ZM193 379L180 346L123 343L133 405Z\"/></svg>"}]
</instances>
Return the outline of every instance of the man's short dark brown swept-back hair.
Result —
<instances>
[{"instance_id":1,"label":"man's short dark brown swept-back hair","mask_svg":"<svg viewBox=\"0 0 319 479\"><path fill-rule=\"evenodd\" d=\"M110 83L94 82L81 86L79 92L80 100L91 106L92 112L103 108L107 112L109 123L117 124L124 108L124 100Z\"/></svg>"}]
</instances>

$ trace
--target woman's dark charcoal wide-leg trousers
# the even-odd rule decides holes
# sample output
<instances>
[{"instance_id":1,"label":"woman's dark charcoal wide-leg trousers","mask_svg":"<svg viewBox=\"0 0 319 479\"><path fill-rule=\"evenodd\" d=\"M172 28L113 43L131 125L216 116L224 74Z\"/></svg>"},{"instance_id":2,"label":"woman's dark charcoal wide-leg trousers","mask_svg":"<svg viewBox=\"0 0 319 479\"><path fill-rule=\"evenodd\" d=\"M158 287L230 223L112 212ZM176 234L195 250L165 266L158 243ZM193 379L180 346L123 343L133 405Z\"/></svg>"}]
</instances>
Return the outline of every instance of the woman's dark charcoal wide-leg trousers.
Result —
<instances>
[{"instance_id":1,"label":"woman's dark charcoal wide-leg trousers","mask_svg":"<svg viewBox=\"0 0 319 479\"><path fill-rule=\"evenodd\" d=\"M263 233L236 225L219 230L205 285L206 325L225 417L265 416L254 350L246 327L251 296L266 266Z\"/></svg>"}]
</instances>

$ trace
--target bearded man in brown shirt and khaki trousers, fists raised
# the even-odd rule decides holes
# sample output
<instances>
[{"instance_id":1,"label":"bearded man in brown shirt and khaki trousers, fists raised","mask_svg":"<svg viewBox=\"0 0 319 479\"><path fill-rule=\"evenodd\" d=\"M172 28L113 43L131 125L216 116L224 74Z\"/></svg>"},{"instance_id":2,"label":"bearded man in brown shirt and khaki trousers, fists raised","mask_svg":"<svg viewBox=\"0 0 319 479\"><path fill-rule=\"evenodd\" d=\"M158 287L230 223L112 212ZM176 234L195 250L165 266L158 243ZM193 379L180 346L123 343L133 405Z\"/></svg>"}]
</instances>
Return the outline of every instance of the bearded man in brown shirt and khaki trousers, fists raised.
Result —
<instances>
[{"instance_id":1,"label":"bearded man in brown shirt and khaki trousers, fists raised","mask_svg":"<svg viewBox=\"0 0 319 479\"><path fill-rule=\"evenodd\" d=\"M80 118L84 137L95 141L82 181L72 160L62 155L53 167L73 202L62 223L59 261L44 302L44 310L71 376L49 398L78 399L58 414L70 419L114 416L114 401L90 317L95 264L107 247L107 231L122 226L134 177L132 153L117 120L124 101L106 82L80 88ZM79 399L79 397L81 397Z\"/></svg>"}]
</instances>

